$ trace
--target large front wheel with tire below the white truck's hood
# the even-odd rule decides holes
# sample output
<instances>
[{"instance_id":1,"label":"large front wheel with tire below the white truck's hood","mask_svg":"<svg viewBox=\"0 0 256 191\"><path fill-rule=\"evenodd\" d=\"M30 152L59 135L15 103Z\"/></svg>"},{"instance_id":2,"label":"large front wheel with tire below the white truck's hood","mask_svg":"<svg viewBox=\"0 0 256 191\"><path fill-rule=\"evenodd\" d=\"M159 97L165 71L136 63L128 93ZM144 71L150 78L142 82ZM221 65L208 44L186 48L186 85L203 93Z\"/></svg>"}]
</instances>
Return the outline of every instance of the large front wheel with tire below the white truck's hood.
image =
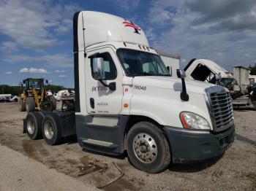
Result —
<instances>
[{"instance_id":1,"label":"large front wheel with tire below the white truck's hood","mask_svg":"<svg viewBox=\"0 0 256 191\"><path fill-rule=\"evenodd\" d=\"M138 122L127 135L127 153L135 168L148 173L159 173L170 164L170 148L157 125Z\"/></svg>"}]
</instances>

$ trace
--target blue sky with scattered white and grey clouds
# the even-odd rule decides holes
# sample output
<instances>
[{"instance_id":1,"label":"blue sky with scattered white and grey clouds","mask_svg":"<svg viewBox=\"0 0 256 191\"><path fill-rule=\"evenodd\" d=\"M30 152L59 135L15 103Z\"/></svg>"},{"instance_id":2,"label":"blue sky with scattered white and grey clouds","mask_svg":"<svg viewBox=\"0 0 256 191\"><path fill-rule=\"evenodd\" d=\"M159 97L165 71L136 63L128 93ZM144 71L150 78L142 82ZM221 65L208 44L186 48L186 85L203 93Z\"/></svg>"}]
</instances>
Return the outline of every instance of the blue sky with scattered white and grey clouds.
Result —
<instances>
[{"instance_id":1,"label":"blue sky with scattered white and grey clouds","mask_svg":"<svg viewBox=\"0 0 256 191\"><path fill-rule=\"evenodd\" d=\"M225 69L256 63L254 0L0 0L0 84L26 77L74 87L72 15L108 12L145 31L151 47L216 61Z\"/></svg>"}]
</instances>

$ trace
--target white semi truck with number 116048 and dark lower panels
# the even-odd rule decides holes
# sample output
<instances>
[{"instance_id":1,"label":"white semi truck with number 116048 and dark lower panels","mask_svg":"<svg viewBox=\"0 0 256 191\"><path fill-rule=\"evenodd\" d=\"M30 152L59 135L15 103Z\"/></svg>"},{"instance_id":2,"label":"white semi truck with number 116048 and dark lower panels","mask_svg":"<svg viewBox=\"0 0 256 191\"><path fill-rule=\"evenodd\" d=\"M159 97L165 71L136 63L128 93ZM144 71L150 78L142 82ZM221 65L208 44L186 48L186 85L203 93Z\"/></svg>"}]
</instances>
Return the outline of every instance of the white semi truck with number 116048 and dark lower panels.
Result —
<instances>
[{"instance_id":1,"label":"white semi truck with number 116048 and dark lower panels","mask_svg":"<svg viewBox=\"0 0 256 191\"><path fill-rule=\"evenodd\" d=\"M75 111L30 112L31 139L50 144L77 135L87 150L122 155L149 173L170 163L222 155L234 140L224 87L170 77L143 30L102 12L73 18ZM67 112L63 112L67 111Z\"/></svg>"}]
</instances>

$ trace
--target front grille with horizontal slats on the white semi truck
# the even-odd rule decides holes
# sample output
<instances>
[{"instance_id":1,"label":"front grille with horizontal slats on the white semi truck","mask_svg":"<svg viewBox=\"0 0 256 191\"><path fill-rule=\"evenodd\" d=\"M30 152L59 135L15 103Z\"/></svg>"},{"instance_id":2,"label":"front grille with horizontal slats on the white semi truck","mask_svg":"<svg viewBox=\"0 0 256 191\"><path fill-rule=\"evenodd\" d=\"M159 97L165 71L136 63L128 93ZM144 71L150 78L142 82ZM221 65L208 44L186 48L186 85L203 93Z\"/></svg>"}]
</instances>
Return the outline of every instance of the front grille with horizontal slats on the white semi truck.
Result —
<instances>
[{"instance_id":1,"label":"front grille with horizontal slats on the white semi truck","mask_svg":"<svg viewBox=\"0 0 256 191\"><path fill-rule=\"evenodd\" d=\"M214 131L230 128L234 119L230 93L219 86L206 89L206 93Z\"/></svg>"}]
</instances>

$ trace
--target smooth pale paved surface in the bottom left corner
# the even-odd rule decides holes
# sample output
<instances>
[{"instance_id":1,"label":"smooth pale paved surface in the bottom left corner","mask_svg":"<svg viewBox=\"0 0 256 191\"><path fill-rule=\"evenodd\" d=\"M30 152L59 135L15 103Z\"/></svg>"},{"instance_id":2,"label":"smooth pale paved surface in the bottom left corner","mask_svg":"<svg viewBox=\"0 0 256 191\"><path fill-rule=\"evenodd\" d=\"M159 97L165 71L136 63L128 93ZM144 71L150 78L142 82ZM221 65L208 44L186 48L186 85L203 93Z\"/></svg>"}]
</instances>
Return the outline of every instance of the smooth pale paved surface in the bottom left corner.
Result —
<instances>
[{"instance_id":1,"label":"smooth pale paved surface in the bottom left corner","mask_svg":"<svg viewBox=\"0 0 256 191\"><path fill-rule=\"evenodd\" d=\"M97 190L0 145L0 190Z\"/></svg>"}]
</instances>

